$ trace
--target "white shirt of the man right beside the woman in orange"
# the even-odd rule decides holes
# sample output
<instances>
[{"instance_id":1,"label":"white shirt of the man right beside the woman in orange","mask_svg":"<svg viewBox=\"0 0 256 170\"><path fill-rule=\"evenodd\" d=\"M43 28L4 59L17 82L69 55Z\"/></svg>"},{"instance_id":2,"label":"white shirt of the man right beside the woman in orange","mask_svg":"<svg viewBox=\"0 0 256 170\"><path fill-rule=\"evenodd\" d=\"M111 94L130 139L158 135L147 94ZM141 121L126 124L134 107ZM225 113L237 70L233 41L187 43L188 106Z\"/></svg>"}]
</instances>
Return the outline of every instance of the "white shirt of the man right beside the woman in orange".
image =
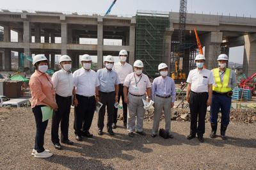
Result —
<instances>
[{"instance_id":1,"label":"white shirt of the man right beside the woman in orange","mask_svg":"<svg viewBox=\"0 0 256 170\"><path fill-rule=\"evenodd\" d=\"M72 73L68 73L63 69L53 73L52 84L57 95L61 97L72 96L72 91L74 88L74 80Z\"/></svg>"}]
</instances>

